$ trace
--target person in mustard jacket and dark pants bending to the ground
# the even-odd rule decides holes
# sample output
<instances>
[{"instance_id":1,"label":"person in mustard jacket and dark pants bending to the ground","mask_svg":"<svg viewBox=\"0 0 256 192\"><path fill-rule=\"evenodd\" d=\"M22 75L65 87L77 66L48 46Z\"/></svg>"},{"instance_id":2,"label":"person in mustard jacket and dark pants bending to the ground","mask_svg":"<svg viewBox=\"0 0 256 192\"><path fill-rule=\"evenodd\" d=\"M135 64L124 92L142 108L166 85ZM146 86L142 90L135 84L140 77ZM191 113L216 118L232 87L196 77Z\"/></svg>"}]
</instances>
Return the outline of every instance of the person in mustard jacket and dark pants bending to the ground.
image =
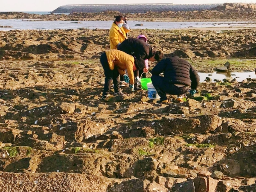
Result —
<instances>
[{"instance_id":1,"label":"person in mustard jacket and dark pants bending to the ground","mask_svg":"<svg viewBox=\"0 0 256 192\"><path fill-rule=\"evenodd\" d=\"M107 92L111 87L112 81L115 90L114 95L125 96L119 87L119 75L123 76L126 83L130 83L129 87L134 91L133 71L145 68L145 61L143 59L134 59L133 56L116 49L105 51L100 56L100 62L105 74L105 85L102 93L102 99L107 97ZM127 70L128 76L126 75L125 70Z\"/></svg>"}]
</instances>

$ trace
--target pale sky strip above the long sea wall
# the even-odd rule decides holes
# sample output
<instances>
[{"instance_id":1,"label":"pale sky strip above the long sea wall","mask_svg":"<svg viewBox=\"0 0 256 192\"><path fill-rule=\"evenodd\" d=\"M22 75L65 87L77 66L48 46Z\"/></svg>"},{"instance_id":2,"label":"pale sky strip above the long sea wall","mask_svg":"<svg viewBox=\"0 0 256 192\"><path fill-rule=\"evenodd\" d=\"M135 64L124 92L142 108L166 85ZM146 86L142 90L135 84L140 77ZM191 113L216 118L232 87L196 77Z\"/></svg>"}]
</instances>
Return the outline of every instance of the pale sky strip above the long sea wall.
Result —
<instances>
[{"instance_id":1,"label":"pale sky strip above the long sea wall","mask_svg":"<svg viewBox=\"0 0 256 192\"><path fill-rule=\"evenodd\" d=\"M202 0L127 0L123 3L202 3ZM204 0L204 3L256 3L256 0ZM118 4L120 0L108 0L108 4ZM53 11L68 4L106 4L106 0L0 0L0 12L40 12Z\"/></svg>"}]
</instances>

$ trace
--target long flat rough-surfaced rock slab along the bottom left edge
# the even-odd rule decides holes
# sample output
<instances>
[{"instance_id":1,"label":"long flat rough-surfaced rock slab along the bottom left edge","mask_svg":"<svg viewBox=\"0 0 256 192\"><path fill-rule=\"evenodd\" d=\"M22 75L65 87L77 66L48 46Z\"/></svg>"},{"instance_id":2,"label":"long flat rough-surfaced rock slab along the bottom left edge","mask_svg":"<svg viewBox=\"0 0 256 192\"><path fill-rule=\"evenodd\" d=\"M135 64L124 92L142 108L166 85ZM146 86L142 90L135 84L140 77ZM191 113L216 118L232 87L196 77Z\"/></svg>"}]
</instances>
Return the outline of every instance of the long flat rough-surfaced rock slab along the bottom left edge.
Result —
<instances>
[{"instance_id":1,"label":"long flat rough-surfaced rock slab along the bottom left edge","mask_svg":"<svg viewBox=\"0 0 256 192\"><path fill-rule=\"evenodd\" d=\"M35 160L36 161L36 160ZM20 162L22 163L22 162ZM57 171L57 170L56 170ZM53 182L54 180L58 182ZM19 182L17 182L19 180ZM110 179L96 175L74 173L8 173L0 172L0 188L5 191L76 191L105 192L112 183ZM79 182L80 185L77 185ZM10 189L10 190L9 190Z\"/></svg>"}]
</instances>

